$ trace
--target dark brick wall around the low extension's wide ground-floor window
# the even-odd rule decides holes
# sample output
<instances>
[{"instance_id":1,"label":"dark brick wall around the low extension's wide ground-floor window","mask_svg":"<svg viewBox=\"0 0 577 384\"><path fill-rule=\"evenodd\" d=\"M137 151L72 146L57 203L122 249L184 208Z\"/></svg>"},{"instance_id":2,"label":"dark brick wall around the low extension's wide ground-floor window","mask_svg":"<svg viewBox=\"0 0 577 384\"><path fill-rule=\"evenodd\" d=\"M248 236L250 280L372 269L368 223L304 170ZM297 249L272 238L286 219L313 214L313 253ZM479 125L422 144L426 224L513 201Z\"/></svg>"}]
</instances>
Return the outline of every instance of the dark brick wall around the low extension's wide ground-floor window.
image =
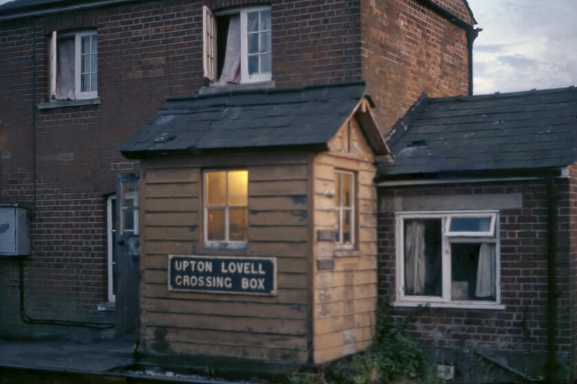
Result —
<instances>
[{"instance_id":1,"label":"dark brick wall around the low extension's wide ground-floor window","mask_svg":"<svg viewBox=\"0 0 577 384\"><path fill-rule=\"evenodd\" d=\"M569 276L569 193L567 180L556 182L558 197L557 307L558 352L572 348L572 299ZM574 190L574 187L572 187ZM498 233L501 241L501 303L505 309L407 309L397 307L394 317L413 315L410 334L435 348L457 350L545 351L547 347L547 196L543 181L444 186L381 188L379 191L379 289L394 296L394 212L385 211L384 197L418 195L482 195L520 193L522 208L501 210ZM574 194L574 191L572 191ZM574 202L572 202L574 205ZM574 232L573 232L574 233Z\"/></svg>"}]
</instances>

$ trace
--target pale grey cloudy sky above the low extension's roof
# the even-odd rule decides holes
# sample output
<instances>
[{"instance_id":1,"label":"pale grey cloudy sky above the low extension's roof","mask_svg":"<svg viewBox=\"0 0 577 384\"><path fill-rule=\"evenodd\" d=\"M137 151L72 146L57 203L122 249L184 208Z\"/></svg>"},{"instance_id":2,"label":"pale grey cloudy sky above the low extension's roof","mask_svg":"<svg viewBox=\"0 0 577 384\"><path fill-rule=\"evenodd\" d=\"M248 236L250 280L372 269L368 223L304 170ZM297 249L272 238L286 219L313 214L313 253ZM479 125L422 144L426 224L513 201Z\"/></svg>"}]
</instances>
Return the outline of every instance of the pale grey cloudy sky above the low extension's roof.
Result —
<instances>
[{"instance_id":1,"label":"pale grey cloudy sky above the low extension's roof","mask_svg":"<svg viewBox=\"0 0 577 384\"><path fill-rule=\"evenodd\" d=\"M577 0L468 3L483 28L473 45L475 94L577 85Z\"/></svg>"}]
</instances>

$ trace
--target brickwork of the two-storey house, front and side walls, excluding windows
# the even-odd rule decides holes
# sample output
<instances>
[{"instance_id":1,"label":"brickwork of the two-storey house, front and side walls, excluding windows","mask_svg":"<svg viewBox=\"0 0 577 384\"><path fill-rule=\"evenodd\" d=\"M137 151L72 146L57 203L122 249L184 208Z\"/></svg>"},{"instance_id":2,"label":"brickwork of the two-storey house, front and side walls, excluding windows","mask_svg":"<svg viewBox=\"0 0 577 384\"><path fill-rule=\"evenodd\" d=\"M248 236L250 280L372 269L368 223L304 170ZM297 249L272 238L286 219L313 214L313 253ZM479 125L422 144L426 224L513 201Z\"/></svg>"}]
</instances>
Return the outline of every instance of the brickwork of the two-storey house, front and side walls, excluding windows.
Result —
<instances>
[{"instance_id":1,"label":"brickwork of the two-storey house, front and side walls, excluding windows","mask_svg":"<svg viewBox=\"0 0 577 384\"><path fill-rule=\"evenodd\" d=\"M196 94L207 85L201 6L250 3L261 2L141 1L0 22L0 202L35 206L32 256L23 259L30 317L100 319L95 305L106 300L106 196L117 173L138 169L117 147L155 115L164 97ZM271 1L276 86L363 78L385 111L382 127L423 90L462 93L462 30L413 0L370 3ZM49 34L81 27L98 29L100 104L38 109L49 101ZM361 33L372 36L361 40ZM9 303L0 306L0 332L15 333L21 322L13 258L0 260L0 296Z\"/></svg>"}]
</instances>

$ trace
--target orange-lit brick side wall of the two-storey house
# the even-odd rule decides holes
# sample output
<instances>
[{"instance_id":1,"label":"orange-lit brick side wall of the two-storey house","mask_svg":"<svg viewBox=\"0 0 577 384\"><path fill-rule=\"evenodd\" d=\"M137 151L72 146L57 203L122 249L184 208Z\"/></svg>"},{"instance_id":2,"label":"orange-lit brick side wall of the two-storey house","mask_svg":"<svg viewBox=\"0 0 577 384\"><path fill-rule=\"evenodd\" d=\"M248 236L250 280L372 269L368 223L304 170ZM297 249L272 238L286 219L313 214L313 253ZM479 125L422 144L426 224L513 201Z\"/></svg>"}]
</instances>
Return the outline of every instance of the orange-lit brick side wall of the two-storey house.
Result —
<instances>
[{"instance_id":1,"label":"orange-lit brick side wall of the two-storey house","mask_svg":"<svg viewBox=\"0 0 577 384\"><path fill-rule=\"evenodd\" d=\"M461 0L443 5L465 16ZM418 1L362 1L361 25L363 79L383 132L423 91L429 97L468 93L464 29Z\"/></svg>"}]
</instances>

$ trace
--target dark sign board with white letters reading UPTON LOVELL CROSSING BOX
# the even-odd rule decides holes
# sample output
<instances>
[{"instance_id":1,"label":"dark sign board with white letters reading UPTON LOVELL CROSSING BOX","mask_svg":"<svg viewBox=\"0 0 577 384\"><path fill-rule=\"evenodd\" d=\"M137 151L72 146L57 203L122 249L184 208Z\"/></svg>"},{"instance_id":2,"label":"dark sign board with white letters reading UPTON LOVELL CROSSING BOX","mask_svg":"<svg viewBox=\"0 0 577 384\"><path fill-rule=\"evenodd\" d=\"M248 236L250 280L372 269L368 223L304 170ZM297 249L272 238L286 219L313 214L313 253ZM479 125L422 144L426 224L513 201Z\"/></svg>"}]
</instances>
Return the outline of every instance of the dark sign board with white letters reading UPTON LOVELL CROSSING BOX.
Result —
<instances>
[{"instance_id":1,"label":"dark sign board with white letters reading UPTON LOVELL CROSSING BOX","mask_svg":"<svg viewBox=\"0 0 577 384\"><path fill-rule=\"evenodd\" d=\"M168 289L248 295L276 294L276 258L168 256Z\"/></svg>"}]
</instances>

